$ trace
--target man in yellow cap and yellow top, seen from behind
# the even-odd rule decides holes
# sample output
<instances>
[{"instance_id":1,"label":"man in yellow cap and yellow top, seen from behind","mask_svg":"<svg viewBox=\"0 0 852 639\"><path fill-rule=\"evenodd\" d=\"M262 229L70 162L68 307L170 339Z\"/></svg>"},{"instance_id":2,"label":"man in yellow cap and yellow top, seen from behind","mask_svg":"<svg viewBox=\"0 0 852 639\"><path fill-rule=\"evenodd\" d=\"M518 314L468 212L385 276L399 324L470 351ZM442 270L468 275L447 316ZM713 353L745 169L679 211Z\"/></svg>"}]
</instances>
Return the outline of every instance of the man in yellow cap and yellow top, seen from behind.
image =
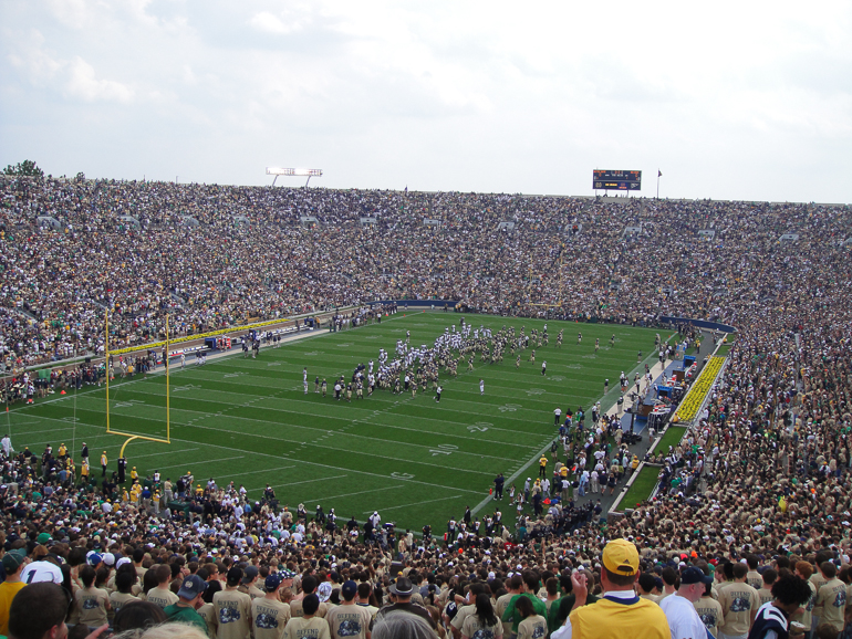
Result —
<instances>
[{"instance_id":1,"label":"man in yellow cap and yellow top, seen from behind","mask_svg":"<svg viewBox=\"0 0 852 639\"><path fill-rule=\"evenodd\" d=\"M555 630L551 639L669 639L665 612L633 590L640 575L636 546L626 540L613 540L603 549L602 563L603 598L586 606L585 574L571 575L576 600L565 625Z\"/></svg>"}]
</instances>

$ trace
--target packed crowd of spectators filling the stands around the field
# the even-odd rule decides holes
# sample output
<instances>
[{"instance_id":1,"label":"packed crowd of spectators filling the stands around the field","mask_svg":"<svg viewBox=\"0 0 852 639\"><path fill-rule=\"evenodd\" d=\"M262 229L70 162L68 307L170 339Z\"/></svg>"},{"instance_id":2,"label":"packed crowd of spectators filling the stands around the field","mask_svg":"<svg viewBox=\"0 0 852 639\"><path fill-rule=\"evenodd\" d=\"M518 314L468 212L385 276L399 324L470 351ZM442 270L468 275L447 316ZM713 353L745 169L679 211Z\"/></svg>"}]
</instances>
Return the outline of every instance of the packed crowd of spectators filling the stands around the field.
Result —
<instances>
[{"instance_id":1,"label":"packed crowd of spectators filling the stands around the field","mask_svg":"<svg viewBox=\"0 0 852 639\"><path fill-rule=\"evenodd\" d=\"M368 584L363 603L378 607L402 574L435 607L441 633L453 632L461 599L475 605L482 593L498 616L501 599L512 599L507 593L538 595L546 617L576 589L571 573L600 594L603 548L623 537L655 577L642 595L673 594L678 568L690 565L724 589L739 579L736 564L756 562L756 574L811 577L811 609L794 619L809 629L812 617L830 619L834 636L843 629L819 593L837 578L852 594L849 208L29 179L0 187L0 348L9 367L96 353L106 307L117 344L159 335L165 308L189 334L404 297L489 313L652 325L672 315L737 328L707 409L666 455L671 469L695 471L692 490L664 490L630 504L622 518L579 520L562 534L542 514L529 528L547 534L520 544L498 527L470 543L386 531L365 544L363 522L353 536L346 525L253 507L227 490L210 495L216 507L164 516L115 503L104 486L58 486L4 459L7 554L56 563L70 589L83 587L81 567L95 559L97 583L111 588L115 564L129 557L139 569L168 566L175 589L201 569L215 579L214 566L224 579L237 565L254 578L287 568L298 575L289 597L304 596L301 584L315 578L333 605L352 580ZM38 216L61 228L39 228ZM362 224L366 217L375 223ZM515 227L500 230L501 222ZM699 234L708 230L713 237ZM798 240L781 239L789 233ZM574 600L565 601L549 631ZM515 626L536 616L517 608L524 610L510 612ZM725 622L710 630L742 635Z\"/></svg>"}]
</instances>

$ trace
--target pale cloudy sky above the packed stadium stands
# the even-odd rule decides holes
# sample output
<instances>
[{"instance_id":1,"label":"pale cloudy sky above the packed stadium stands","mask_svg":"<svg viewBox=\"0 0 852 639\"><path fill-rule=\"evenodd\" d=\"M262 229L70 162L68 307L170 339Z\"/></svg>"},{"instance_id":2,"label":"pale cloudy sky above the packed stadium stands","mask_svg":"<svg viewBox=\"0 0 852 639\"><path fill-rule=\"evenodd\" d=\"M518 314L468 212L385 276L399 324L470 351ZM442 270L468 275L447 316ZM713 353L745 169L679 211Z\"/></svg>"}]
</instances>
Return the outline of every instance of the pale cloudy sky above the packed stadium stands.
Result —
<instances>
[{"instance_id":1,"label":"pale cloudy sky above the packed stadium stands","mask_svg":"<svg viewBox=\"0 0 852 639\"><path fill-rule=\"evenodd\" d=\"M852 202L845 0L0 0L0 53L2 166Z\"/></svg>"}]
</instances>

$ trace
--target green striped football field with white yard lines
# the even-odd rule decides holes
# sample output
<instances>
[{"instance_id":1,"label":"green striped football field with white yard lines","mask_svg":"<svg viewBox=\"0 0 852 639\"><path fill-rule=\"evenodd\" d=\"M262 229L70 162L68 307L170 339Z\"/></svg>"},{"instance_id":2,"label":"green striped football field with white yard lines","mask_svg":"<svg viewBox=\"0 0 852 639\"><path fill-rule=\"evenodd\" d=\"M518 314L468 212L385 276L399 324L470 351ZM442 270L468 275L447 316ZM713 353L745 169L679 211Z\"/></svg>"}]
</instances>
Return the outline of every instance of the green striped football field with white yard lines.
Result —
<instances>
[{"instance_id":1,"label":"green striped football field with white yard lines","mask_svg":"<svg viewBox=\"0 0 852 639\"><path fill-rule=\"evenodd\" d=\"M474 327L492 331L513 325L541 329L544 322L465 315ZM602 400L606 409L617 398L622 370L632 379L644 362L653 362L655 331L630 326L548 322L550 345L538 348L536 363L522 352L516 368L507 350L501 364L475 359L475 369L460 364L458 377L441 374L444 394L435 401L429 386L394 395L376 390L351 404L335 401L333 379L349 379L357 364L378 362L380 347L393 358L397 339L411 331L411 344L433 345L444 328L460 315L441 312L401 312L373 324L342 333L319 331L311 336L261 349L258 359L231 355L186 369L174 366L169 376L172 443L132 441L125 451L129 468L141 475L159 470L176 480L191 471L202 484L215 478L219 485L233 481L260 499L271 484L282 505L294 510L304 503L309 513L322 504L334 507L343 521L359 522L378 510L384 521L419 531L429 523L441 534L450 517L469 505L481 516L495 510L486 501L498 472L522 488L534 476L538 458L557 432L553 409L562 411ZM557 334L564 328L564 343ZM578 345L578 332L582 344ZM615 346L610 337L615 334ZM601 341L594 354L595 337ZM668 335L663 335L665 339ZM642 352L643 364L637 364ZM547 376L541 362L547 359ZM302 369L309 374L303 391ZM329 395L314 394L314 377L329 380ZM485 395L479 379L485 380ZM603 380L610 392L603 397ZM100 455L105 450L110 468L126 437L106 433L105 389L84 387L77 394L52 395L34 406L18 406L8 413L15 450L29 447L41 453L67 444L79 461L82 442L90 448L92 473L100 478ZM110 426L147 437L166 434L166 377L162 369L145 378L116 380L110 387ZM549 464L552 469L552 462ZM529 470L528 470L529 469ZM508 500L505 520L512 521Z\"/></svg>"}]
</instances>

